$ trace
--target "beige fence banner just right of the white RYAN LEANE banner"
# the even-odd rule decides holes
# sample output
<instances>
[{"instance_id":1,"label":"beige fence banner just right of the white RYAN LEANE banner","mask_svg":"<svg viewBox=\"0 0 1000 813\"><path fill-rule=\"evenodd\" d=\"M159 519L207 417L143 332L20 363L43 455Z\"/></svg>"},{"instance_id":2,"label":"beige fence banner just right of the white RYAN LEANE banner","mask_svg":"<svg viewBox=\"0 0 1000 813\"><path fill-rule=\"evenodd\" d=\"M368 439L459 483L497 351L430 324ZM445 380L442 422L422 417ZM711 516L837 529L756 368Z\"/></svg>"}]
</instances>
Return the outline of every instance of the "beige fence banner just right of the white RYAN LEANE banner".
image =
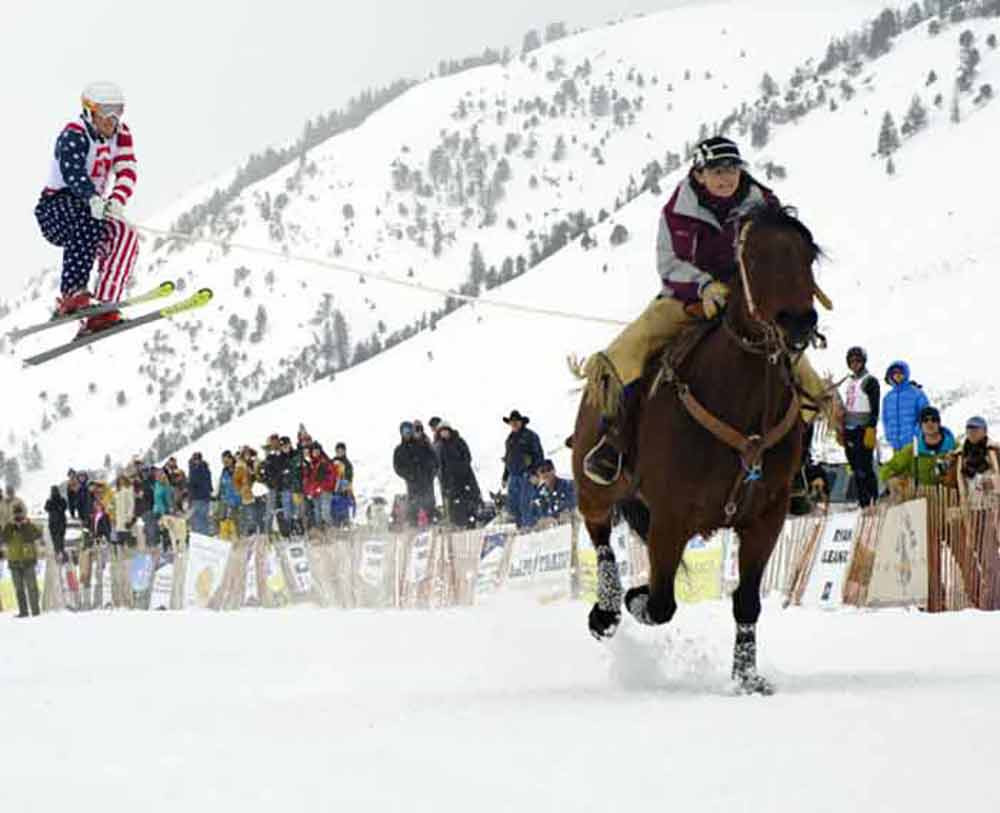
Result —
<instances>
[{"instance_id":1,"label":"beige fence banner just right of the white RYAN LEANE banner","mask_svg":"<svg viewBox=\"0 0 1000 813\"><path fill-rule=\"evenodd\" d=\"M868 605L927 604L927 500L886 511L879 529Z\"/></svg>"}]
</instances>

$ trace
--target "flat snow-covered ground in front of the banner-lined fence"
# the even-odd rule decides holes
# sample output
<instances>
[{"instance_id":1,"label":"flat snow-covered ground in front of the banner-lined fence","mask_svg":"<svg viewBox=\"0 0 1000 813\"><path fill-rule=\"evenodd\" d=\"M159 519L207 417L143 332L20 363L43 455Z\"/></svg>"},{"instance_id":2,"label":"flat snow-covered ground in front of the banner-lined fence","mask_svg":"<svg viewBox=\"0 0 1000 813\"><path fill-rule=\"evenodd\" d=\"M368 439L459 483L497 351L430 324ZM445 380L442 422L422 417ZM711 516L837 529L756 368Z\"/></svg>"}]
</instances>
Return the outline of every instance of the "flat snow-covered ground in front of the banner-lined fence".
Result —
<instances>
[{"instance_id":1,"label":"flat snow-covered ground in front of the banner-lined fence","mask_svg":"<svg viewBox=\"0 0 1000 813\"><path fill-rule=\"evenodd\" d=\"M1000 616L728 603L0 618L7 810L991 809Z\"/></svg>"}]
</instances>

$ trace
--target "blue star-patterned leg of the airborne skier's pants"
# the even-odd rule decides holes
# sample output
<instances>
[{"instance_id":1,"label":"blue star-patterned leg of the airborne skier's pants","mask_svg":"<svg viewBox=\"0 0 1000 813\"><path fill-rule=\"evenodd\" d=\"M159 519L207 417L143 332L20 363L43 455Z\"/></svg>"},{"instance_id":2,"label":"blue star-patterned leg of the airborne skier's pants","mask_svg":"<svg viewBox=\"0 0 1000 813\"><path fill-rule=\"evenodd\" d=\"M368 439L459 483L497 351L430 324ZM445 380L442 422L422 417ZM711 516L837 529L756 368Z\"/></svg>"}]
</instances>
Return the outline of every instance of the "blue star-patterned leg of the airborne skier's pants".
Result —
<instances>
[{"instance_id":1,"label":"blue star-patterned leg of the airborne skier's pants","mask_svg":"<svg viewBox=\"0 0 1000 813\"><path fill-rule=\"evenodd\" d=\"M45 239L63 250L61 293L87 290L107 223L91 217L88 202L66 191L43 195L35 219Z\"/></svg>"}]
</instances>

